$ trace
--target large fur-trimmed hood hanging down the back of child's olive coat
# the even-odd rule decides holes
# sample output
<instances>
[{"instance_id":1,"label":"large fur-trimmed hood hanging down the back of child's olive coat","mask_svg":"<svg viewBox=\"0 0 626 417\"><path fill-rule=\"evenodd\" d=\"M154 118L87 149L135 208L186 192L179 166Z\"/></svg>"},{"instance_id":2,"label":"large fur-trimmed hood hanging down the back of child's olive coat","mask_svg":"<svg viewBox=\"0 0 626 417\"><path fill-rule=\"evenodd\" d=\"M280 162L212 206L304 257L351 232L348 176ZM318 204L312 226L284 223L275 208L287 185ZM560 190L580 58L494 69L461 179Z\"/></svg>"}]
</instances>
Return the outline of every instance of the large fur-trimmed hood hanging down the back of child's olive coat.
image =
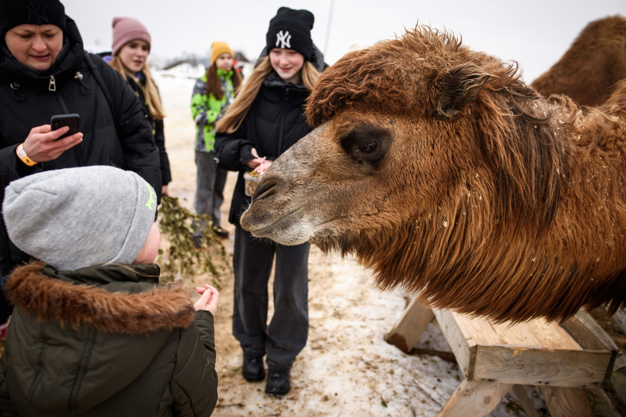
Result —
<instances>
[{"instance_id":1,"label":"large fur-trimmed hood hanging down the back of child's olive coat","mask_svg":"<svg viewBox=\"0 0 626 417\"><path fill-rule=\"evenodd\" d=\"M31 406L88 411L135 381L173 329L192 325L190 292L156 285L158 273L155 264L15 269L5 284L15 304L6 353Z\"/></svg>"}]
</instances>

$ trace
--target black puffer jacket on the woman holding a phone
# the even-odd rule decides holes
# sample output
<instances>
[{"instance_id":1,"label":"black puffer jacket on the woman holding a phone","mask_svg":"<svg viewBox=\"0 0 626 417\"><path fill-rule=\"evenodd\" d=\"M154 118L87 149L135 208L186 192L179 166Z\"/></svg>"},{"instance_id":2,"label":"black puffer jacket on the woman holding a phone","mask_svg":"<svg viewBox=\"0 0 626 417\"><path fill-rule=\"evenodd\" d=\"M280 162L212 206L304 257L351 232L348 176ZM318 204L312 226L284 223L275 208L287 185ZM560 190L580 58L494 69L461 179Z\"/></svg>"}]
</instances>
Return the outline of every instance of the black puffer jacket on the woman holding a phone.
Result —
<instances>
[{"instance_id":1,"label":"black puffer jacket on the woman holding a phone","mask_svg":"<svg viewBox=\"0 0 626 417\"><path fill-rule=\"evenodd\" d=\"M0 47L0 186L4 188L28 174L75 166L111 165L140 174L155 191L161 191L159 151L150 121L126 81L101 58L85 59L76 24L67 18L61 53L48 71L20 64ZM95 65L97 69L92 69ZM111 96L109 105L94 71L98 71ZM52 83L54 81L54 83ZM56 91L51 91L52 86ZM50 123L54 114L78 113L83 142L59 158L28 167L15 149L35 126ZM117 120L117 129L114 120ZM10 246L10 248L9 248ZM26 258L9 243L0 228L0 275Z\"/></svg>"}]
</instances>

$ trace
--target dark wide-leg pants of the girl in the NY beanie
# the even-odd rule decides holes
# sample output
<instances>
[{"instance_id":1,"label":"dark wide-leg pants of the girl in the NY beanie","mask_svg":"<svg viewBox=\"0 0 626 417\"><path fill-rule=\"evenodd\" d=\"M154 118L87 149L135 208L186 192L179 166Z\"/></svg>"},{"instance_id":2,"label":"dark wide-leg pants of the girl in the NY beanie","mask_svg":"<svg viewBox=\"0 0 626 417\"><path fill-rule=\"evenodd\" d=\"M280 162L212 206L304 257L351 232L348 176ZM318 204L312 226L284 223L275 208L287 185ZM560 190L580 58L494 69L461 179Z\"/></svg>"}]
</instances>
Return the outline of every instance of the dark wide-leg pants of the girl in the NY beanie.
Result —
<instances>
[{"instance_id":1,"label":"dark wide-leg pants of the girl in the NY beanie","mask_svg":"<svg viewBox=\"0 0 626 417\"><path fill-rule=\"evenodd\" d=\"M288 370L309 333L309 243L259 239L235 228L233 335L245 354L267 354L267 366ZM274 316L267 324L267 283L276 255Z\"/></svg>"}]
</instances>

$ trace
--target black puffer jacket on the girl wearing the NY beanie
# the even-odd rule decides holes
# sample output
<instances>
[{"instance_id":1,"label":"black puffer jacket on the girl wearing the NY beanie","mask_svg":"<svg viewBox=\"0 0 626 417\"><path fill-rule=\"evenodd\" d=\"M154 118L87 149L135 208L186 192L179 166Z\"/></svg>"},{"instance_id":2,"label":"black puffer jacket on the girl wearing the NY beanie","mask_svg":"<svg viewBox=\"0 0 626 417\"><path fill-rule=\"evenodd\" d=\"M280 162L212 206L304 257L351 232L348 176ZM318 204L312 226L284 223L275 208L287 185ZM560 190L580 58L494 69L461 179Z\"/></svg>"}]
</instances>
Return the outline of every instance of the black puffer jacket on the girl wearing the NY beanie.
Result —
<instances>
[{"instance_id":1,"label":"black puffer jacket on the girl wearing the NY beanie","mask_svg":"<svg viewBox=\"0 0 626 417\"><path fill-rule=\"evenodd\" d=\"M239 219L250 204L245 195L244 173L250 168L244 164L252 156L252 148L259 156L276 159L298 139L310 131L304 117L304 101L309 96L302 84L285 83L274 71L265 79L254 103L239 129L233 134L215 135L218 165L228 171L239 171L235 184L228 221L239 224Z\"/></svg>"}]
</instances>

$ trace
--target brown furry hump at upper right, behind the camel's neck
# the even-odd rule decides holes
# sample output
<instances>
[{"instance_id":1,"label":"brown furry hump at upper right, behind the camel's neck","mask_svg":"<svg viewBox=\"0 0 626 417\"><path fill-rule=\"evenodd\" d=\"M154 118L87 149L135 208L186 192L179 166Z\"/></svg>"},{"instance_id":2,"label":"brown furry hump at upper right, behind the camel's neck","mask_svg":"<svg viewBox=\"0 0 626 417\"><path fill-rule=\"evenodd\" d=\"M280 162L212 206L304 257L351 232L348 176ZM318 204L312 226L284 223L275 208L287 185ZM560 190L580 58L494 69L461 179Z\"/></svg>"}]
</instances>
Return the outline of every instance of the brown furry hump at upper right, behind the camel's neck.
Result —
<instances>
[{"instance_id":1,"label":"brown furry hump at upper right, behind the camel's neck","mask_svg":"<svg viewBox=\"0 0 626 417\"><path fill-rule=\"evenodd\" d=\"M565 94L581 106L603 103L626 78L626 19L589 23L570 49L531 84L544 96Z\"/></svg>"}]
</instances>

